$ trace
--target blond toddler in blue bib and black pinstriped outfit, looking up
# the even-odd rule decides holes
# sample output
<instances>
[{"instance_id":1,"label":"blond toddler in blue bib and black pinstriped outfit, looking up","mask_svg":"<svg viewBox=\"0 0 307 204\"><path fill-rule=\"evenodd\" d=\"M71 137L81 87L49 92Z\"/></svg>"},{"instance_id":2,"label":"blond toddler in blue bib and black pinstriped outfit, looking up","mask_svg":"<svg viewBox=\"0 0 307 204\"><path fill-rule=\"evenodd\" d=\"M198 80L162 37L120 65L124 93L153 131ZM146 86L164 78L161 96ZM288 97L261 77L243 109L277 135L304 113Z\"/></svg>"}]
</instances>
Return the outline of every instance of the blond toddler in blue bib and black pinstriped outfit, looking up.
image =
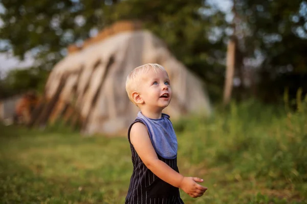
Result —
<instances>
[{"instance_id":1,"label":"blond toddler in blue bib and black pinstriped outfit, looking up","mask_svg":"<svg viewBox=\"0 0 307 204\"><path fill-rule=\"evenodd\" d=\"M177 166L177 137L167 114L162 113L171 100L166 70L159 64L135 68L127 77L126 91L140 112L128 130L133 174L125 203L184 203L179 188L191 197L207 190L185 177Z\"/></svg>"}]
</instances>

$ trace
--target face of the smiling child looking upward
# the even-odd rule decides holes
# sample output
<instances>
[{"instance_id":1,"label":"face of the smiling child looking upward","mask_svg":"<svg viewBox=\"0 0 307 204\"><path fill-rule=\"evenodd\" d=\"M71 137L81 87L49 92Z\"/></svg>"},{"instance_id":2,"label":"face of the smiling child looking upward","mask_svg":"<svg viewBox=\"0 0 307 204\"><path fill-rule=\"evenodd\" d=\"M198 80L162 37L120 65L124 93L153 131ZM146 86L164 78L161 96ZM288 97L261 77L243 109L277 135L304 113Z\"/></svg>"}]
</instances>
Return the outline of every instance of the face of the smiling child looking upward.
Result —
<instances>
[{"instance_id":1,"label":"face of the smiling child looking upward","mask_svg":"<svg viewBox=\"0 0 307 204\"><path fill-rule=\"evenodd\" d=\"M144 73L139 90L139 94L144 100L143 105L148 106L148 108L161 108L163 110L170 103L172 94L166 71L159 70L156 73L149 70Z\"/></svg>"}]
</instances>

